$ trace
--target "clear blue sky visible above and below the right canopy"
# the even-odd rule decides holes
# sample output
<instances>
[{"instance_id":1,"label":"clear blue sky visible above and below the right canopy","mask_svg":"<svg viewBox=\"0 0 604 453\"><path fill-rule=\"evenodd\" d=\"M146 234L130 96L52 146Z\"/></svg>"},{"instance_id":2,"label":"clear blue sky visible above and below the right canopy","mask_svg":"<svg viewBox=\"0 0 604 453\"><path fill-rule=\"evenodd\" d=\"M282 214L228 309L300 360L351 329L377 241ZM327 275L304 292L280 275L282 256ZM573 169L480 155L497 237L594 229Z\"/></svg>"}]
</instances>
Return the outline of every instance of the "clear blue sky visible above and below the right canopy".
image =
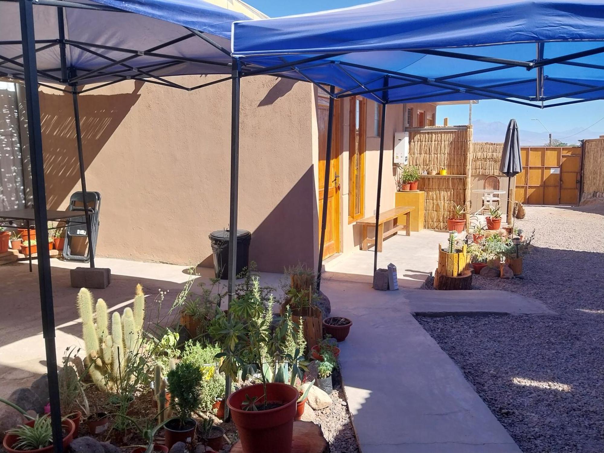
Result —
<instances>
[{"instance_id":1,"label":"clear blue sky visible above and below the right canopy","mask_svg":"<svg viewBox=\"0 0 604 453\"><path fill-rule=\"evenodd\" d=\"M344 8L367 3L368 1L304 0L299 2L291 0L248 0L247 2L263 13L271 17L277 17L288 14L310 13L325 9ZM442 118L448 117L449 124L467 124L468 109L467 106L439 106L437 115L439 123L442 122ZM553 138L562 139L563 141L568 141L568 143L574 143L580 138L593 138L594 135L596 137L599 134L604 135L604 101L592 101L551 109L536 109L497 100L480 101L472 109L472 118L484 123L501 122L506 124L510 118L515 118L521 130L545 132L544 127L538 121L532 121L532 118L538 118L551 131ZM599 122L591 126L596 121ZM585 133L578 133L572 137L565 138L570 133L579 132L586 128L589 128L587 132L589 137ZM547 132L545 133L547 134Z\"/></svg>"}]
</instances>

